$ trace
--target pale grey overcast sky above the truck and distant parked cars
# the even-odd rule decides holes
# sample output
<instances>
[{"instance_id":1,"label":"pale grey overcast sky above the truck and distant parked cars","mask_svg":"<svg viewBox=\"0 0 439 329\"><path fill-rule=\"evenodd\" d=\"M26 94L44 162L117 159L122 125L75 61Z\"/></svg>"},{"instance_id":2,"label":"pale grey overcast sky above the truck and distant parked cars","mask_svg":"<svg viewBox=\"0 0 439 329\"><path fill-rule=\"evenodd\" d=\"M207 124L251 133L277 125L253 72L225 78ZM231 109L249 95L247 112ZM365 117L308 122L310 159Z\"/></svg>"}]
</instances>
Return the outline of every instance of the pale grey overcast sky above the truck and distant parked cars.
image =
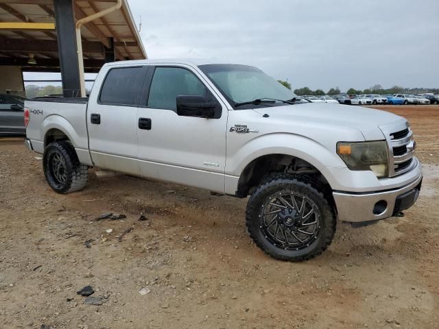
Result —
<instances>
[{"instance_id":1,"label":"pale grey overcast sky above the truck and distant parked cars","mask_svg":"<svg viewBox=\"0 0 439 329\"><path fill-rule=\"evenodd\" d=\"M439 87L438 0L128 0L149 58L252 64L294 88Z\"/></svg>"}]
</instances>

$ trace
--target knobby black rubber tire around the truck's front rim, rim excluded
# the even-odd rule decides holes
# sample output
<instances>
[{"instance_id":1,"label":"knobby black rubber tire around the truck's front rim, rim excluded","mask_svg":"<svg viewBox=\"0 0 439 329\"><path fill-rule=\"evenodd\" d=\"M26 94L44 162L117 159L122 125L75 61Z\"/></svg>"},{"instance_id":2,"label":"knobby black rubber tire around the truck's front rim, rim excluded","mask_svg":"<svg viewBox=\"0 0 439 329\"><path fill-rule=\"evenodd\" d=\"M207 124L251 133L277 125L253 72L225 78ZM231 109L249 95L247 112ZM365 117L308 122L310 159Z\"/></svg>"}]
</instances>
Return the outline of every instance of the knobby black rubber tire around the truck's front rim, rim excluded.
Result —
<instances>
[{"instance_id":1,"label":"knobby black rubber tire around the truck's front rim, rim excluded","mask_svg":"<svg viewBox=\"0 0 439 329\"><path fill-rule=\"evenodd\" d=\"M320 212L318 235L302 249L285 249L281 245L275 245L268 239L262 229L261 216L263 216L263 204L274 195L274 193L296 192L305 195L316 204ZM301 262L314 258L331 244L335 234L337 220L328 195L318 182L305 175L291 175L278 173L262 182L248 200L246 210L246 226L254 243L260 247L265 254L278 260L290 262Z\"/></svg>"}]
</instances>

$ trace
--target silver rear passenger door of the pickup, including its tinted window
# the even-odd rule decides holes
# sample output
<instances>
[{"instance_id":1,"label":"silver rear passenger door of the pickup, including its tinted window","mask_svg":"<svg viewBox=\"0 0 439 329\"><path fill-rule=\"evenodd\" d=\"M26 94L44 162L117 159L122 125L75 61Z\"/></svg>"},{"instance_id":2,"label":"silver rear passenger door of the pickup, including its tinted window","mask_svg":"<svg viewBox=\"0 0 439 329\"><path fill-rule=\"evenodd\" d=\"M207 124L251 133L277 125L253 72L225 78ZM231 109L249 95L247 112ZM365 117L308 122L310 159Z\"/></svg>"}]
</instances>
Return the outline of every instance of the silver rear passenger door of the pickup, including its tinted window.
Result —
<instances>
[{"instance_id":1,"label":"silver rear passenger door of the pickup, including its tinted window","mask_svg":"<svg viewBox=\"0 0 439 329\"><path fill-rule=\"evenodd\" d=\"M146 66L109 66L98 77L87 108L91 158L95 166L139 175L137 107Z\"/></svg>"}]
</instances>

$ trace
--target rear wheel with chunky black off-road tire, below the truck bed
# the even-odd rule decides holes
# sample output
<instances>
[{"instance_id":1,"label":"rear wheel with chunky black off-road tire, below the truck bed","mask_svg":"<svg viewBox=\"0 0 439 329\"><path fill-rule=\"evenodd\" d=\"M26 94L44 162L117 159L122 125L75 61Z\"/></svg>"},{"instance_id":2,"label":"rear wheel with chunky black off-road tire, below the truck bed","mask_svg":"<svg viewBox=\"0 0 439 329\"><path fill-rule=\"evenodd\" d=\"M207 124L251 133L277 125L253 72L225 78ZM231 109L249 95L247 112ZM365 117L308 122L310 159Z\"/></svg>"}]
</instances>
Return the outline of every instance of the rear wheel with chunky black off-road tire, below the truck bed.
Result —
<instances>
[{"instance_id":1,"label":"rear wheel with chunky black off-road tire, below the truck bed","mask_svg":"<svg viewBox=\"0 0 439 329\"><path fill-rule=\"evenodd\" d=\"M54 175L52 161L54 156L64 159L65 181L61 182ZM80 164L73 145L69 141L50 143L44 150L43 170L47 184L60 194L67 194L82 190L87 184L88 167Z\"/></svg>"}]
</instances>

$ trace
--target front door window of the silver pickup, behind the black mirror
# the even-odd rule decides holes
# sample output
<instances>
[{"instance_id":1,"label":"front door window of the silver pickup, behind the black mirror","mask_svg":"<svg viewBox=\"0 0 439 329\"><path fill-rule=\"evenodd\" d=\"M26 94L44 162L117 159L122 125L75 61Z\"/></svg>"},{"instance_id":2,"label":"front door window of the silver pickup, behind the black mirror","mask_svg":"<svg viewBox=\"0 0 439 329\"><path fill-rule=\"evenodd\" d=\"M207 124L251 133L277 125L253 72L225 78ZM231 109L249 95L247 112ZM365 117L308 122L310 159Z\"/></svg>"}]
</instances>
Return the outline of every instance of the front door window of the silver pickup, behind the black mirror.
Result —
<instances>
[{"instance_id":1,"label":"front door window of the silver pickup, behind the black mirror","mask_svg":"<svg viewBox=\"0 0 439 329\"><path fill-rule=\"evenodd\" d=\"M208 90L191 71L181 67L158 66L152 77L148 108L177 109L177 96L208 96Z\"/></svg>"}]
</instances>

